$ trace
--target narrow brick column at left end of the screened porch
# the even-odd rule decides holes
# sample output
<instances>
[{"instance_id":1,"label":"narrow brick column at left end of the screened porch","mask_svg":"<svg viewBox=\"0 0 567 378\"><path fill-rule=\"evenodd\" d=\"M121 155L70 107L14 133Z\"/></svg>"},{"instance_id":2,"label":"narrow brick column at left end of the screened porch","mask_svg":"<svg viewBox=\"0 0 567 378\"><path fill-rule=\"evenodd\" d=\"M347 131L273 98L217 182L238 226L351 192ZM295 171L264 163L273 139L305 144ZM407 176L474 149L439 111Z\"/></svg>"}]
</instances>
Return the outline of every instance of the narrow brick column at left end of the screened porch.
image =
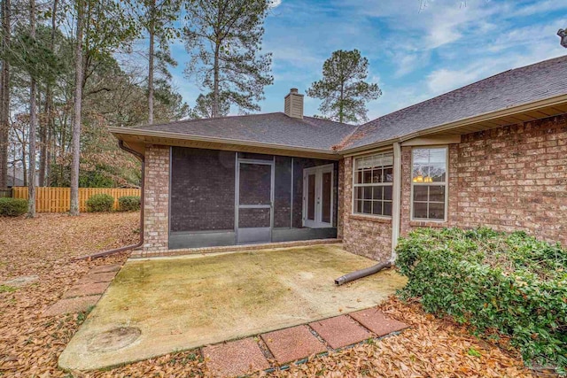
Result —
<instances>
[{"instance_id":1,"label":"narrow brick column at left end of the screened porch","mask_svg":"<svg viewBox=\"0 0 567 378\"><path fill-rule=\"evenodd\" d=\"M146 145L144 252L167 251L169 238L169 147Z\"/></svg>"}]
</instances>

